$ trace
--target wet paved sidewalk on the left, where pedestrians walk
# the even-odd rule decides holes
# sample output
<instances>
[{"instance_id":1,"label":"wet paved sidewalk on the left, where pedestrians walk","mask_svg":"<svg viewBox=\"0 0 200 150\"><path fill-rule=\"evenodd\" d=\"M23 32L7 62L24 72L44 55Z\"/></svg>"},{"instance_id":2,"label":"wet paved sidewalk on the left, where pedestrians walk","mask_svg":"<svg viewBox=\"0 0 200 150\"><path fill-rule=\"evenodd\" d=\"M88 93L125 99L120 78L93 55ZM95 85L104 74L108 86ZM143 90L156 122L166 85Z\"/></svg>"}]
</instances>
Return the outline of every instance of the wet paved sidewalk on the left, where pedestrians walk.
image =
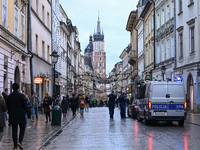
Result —
<instances>
[{"instance_id":1,"label":"wet paved sidewalk on the left, where pedestrians walk","mask_svg":"<svg viewBox=\"0 0 200 150\"><path fill-rule=\"evenodd\" d=\"M37 150L49 137L56 133L66 122L68 122L71 119L72 112L68 111L67 117L62 118L61 125L51 125L51 123L45 123L45 114L39 115L38 122L31 122L31 120L28 120L28 125L23 140L24 150ZM1 143L1 149L12 150L12 148L12 128L8 127L8 121L6 121L6 127L4 128L4 135Z\"/></svg>"}]
</instances>

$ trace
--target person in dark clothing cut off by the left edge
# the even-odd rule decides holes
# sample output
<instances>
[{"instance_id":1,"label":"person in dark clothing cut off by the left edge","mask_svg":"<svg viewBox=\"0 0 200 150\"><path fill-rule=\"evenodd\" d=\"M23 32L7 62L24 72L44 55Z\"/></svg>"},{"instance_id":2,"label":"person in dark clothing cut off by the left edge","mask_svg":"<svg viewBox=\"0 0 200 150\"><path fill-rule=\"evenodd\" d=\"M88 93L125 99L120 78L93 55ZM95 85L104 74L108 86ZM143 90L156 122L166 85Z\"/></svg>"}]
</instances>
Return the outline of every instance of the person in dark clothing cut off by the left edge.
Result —
<instances>
[{"instance_id":1,"label":"person in dark clothing cut off by the left edge","mask_svg":"<svg viewBox=\"0 0 200 150\"><path fill-rule=\"evenodd\" d=\"M3 95L0 95L0 149L1 149L1 140L3 138L3 128L5 127L4 112L6 110L7 110L6 102L3 99Z\"/></svg>"}]
</instances>

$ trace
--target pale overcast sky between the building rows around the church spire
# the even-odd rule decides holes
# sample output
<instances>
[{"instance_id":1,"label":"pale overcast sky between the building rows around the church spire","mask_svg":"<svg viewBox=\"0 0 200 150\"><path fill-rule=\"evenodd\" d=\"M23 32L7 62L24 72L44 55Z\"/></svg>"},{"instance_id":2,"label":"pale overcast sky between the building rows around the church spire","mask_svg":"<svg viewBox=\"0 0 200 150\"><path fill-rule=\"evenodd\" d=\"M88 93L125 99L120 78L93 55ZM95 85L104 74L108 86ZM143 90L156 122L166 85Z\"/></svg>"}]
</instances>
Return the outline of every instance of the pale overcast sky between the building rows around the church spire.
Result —
<instances>
[{"instance_id":1,"label":"pale overcast sky between the building rows around the church spire","mask_svg":"<svg viewBox=\"0 0 200 150\"><path fill-rule=\"evenodd\" d=\"M79 31L82 54L89 43L89 36L97 29L98 11L104 31L107 57L106 72L121 61L121 52L130 43L130 32L126 31L129 14L136 9L138 0L60 0L60 4Z\"/></svg>"}]
</instances>

